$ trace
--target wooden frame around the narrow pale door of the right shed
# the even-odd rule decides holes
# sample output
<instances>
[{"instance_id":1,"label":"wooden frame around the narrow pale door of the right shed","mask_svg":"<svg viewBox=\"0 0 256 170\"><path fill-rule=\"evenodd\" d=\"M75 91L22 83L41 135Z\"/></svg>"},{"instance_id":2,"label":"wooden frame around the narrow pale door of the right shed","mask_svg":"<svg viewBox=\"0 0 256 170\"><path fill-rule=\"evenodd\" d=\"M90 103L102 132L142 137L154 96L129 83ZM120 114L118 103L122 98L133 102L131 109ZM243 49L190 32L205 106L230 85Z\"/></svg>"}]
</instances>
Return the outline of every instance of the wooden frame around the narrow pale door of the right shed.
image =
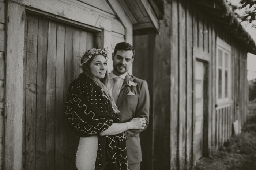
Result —
<instances>
[{"instance_id":1,"label":"wooden frame around the narrow pale door of the right shed","mask_svg":"<svg viewBox=\"0 0 256 170\"><path fill-rule=\"evenodd\" d=\"M211 130L212 130L212 54L202 48L193 47L193 91L195 91L195 67L196 61L203 62L204 74L204 106L203 106L203 157L210 154L211 149ZM195 146L195 92L193 92L193 147ZM195 149L193 148L193 162L196 164Z\"/></svg>"}]
</instances>

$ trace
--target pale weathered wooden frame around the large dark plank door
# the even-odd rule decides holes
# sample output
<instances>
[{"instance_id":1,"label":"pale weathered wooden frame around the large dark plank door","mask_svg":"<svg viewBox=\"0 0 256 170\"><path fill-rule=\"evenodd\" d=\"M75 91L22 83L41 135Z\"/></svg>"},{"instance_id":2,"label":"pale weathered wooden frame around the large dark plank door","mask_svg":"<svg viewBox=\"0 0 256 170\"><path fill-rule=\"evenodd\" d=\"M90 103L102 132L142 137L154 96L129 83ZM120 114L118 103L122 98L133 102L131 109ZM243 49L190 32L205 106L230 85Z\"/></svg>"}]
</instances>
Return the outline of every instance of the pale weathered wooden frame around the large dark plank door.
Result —
<instances>
[{"instance_id":1,"label":"pale weathered wooden frame around the large dark plank door","mask_svg":"<svg viewBox=\"0 0 256 170\"><path fill-rule=\"evenodd\" d=\"M5 108L4 108L4 169L23 168L23 75L24 75L24 37L26 12L44 15L69 25L75 25L96 33L95 47L111 46L111 31L65 19L50 13L7 1L6 58L5 58ZM14 41L15 40L15 41Z\"/></svg>"}]
</instances>

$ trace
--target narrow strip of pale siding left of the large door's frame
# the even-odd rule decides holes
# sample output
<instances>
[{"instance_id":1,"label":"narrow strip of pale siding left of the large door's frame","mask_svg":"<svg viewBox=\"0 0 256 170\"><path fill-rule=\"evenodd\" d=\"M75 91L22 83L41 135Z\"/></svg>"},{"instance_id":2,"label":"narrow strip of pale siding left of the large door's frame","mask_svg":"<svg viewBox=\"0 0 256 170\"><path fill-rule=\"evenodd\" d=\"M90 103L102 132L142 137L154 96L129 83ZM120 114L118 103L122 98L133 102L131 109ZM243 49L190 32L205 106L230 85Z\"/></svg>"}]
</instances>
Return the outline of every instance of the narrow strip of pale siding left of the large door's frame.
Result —
<instances>
[{"instance_id":1,"label":"narrow strip of pale siding left of the large door's frame","mask_svg":"<svg viewBox=\"0 0 256 170\"><path fill-rule=\"evenodd\" d=\"M4 137L5 7L4 0L0 0L0 170L3 169Z\"/></svg>"}]
</instances>

